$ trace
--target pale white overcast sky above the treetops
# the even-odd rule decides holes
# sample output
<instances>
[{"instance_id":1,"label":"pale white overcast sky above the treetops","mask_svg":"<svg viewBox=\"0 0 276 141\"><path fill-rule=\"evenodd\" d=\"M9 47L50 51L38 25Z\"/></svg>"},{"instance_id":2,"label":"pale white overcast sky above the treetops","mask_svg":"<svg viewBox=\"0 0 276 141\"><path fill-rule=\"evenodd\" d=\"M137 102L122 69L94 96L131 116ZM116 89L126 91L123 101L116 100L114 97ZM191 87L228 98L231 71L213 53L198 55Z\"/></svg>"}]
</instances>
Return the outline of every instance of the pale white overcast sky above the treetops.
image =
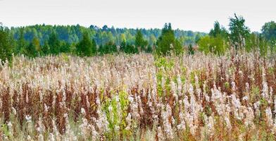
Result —
<instances>
[{"instance_id":1,"label":"pale white overcast sky above the treetops","mask_svg":"<svg viewBox=\"0 0 276 141\"><path fill-rule=\"evenodd\" d=\"M23 25L172 28L208 32L215 20L228 28L237 13L251 31L276 20L275 0L0 0L0 22Z\"/></svg>"}]
</instances>

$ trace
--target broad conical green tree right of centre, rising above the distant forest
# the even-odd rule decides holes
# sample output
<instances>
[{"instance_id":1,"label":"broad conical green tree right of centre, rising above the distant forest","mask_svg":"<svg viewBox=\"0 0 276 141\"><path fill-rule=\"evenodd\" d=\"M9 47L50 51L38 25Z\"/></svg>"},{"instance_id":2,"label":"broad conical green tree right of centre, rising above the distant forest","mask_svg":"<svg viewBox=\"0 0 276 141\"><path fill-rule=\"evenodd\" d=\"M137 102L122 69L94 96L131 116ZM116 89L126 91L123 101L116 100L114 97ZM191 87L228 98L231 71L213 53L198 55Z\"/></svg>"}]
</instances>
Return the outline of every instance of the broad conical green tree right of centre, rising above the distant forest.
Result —
<instances>
[{"instance_id":1,"label":"broad conical green tree right of centre, rising above the distant forest","mask_svg":"<svg viewBox=\"0 0 276 141\"><path fill-rule=\"evenodd\" d=\"M158 55L167 55L170 54L171 51L175 54L181 54L183 51L182 44L175 39L175 33L170 23L168 25L167 23L165 24L161 36L158 38L157 46L156 53Z\"/></svg>"}]
</instances>

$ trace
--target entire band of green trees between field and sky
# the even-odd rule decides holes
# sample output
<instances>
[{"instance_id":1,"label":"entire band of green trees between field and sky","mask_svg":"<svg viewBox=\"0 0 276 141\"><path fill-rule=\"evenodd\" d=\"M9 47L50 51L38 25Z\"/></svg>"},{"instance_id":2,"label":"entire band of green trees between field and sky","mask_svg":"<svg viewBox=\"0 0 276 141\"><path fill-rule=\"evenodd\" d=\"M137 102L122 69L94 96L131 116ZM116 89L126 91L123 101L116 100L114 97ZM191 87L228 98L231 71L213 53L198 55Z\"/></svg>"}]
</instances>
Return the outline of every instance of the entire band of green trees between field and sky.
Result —
<instances>
[{"instance_id":1,"label":"entire band of green trees between field and sky","mask_svg":"<svg viewBox=\"0 0 276 141\"><path fill-rule=\"evenodd\" d=\"M94 25L33 25L26 27L0 26L0 59L10 60L12 54L29 57L48 54L70 53L79 56L112 54L118 51L135 54L141 51L158 55L172 52L182 54L184 45L189 45L188 53L194 54L192 44L204 53L224 54L227 49L260 51L263 56L275 51L276 23L265 23L261 33L251 32L242 16L230 18L229 29L215 21L208 34L201 32L172 30L166 23L158 29L99 28Z\"/></svg>"}]
</instances>

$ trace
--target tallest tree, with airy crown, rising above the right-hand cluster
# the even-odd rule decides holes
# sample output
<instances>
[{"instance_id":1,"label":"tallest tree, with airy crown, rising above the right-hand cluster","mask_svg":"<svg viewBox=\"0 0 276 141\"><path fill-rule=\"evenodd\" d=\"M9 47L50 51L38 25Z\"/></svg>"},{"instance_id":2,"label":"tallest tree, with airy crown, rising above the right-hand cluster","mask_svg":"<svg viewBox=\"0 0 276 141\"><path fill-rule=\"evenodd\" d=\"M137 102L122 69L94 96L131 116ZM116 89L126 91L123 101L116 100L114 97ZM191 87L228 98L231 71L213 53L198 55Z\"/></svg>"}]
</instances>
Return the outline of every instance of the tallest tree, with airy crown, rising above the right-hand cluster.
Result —
<instances>
[{"instance_id":1,"label":"tallest tree, with airy crown, rising above the right-hand cluster","mask_svg":"<svg viewBox=\"0 0 276 141\"><path fill-rule=\"evenodd\" d=\"M230 39L232 39L232 42L237 43L239 47L242 47L244 38L247 38L250 33L249 27L244 24L244 18L242 16L237 17L236 13L234 18L230 18ZM235 47L237 48L237 46Z\"/></svg>"}]
</instances>

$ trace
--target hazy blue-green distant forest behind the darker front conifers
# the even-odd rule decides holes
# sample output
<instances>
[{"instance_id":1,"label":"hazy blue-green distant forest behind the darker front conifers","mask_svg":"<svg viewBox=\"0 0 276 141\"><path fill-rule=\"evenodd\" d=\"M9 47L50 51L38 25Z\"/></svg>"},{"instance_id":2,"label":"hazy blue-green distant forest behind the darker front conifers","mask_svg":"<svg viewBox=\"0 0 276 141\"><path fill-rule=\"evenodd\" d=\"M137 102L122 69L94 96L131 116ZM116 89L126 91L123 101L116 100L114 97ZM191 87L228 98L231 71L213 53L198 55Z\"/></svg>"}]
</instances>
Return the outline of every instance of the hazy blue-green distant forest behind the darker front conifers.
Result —
<instances>
[{"instance_id":1,"label":"hazy blue-green distant forest behind the darker front conifers","mask_svg":"<svg viewBox=\"0 0 276 141\"><path fill-rule=\"evenodd\" d=\"M134 44L137 29L114 28L114 27L97 27L91 25L90 27L83 27L80 25L30 25L25 27L13 27L11 29L13 37L18 40L20 37L20 30L23 31L23 37L26 42L32 42L34 37L37 37L41 44L46 42L51 32L56 32L58 39L68 42L69 44L77 44L82 39L82 33L88 32L91 39L95 39L96 44L106 44L107 42L114 42L120 45L124 40L130 44ZM152 46L156 42L156 38L161 35L160 29L140 29L145 40L149 41ZM203 32L192 32L184 30L175 30L175 37L185 37L187 40L185 44L194 44L194 38L197 34L205 35Z\"/></svg>"}]
</instances>

